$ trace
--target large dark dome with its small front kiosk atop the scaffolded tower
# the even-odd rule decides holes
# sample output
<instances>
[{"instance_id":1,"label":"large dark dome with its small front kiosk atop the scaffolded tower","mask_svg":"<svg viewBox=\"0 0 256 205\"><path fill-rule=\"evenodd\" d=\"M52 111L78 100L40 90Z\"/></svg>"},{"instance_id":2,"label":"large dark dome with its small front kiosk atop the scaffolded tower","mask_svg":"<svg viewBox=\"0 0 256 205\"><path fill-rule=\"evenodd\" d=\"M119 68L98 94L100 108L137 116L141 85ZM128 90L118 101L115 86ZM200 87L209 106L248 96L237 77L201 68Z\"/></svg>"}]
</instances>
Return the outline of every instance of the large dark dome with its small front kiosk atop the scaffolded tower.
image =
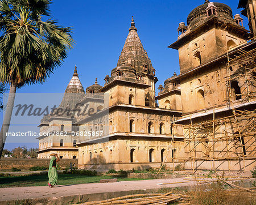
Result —
<instances>
[{"instance_id":1,"label":"large dark dome with its small front kiosk atop the scaffolded tower","mask_svg":"<svg viewBox=\"0 0 256 205\"><path fill-rule=\"evenodd\" d=\"M205 0L203 5L197 6L189 13L187 18L187 25L189 26L199 23L211 15L233 20L232 9L228 5Z\"/></svg>"}]
</instances>

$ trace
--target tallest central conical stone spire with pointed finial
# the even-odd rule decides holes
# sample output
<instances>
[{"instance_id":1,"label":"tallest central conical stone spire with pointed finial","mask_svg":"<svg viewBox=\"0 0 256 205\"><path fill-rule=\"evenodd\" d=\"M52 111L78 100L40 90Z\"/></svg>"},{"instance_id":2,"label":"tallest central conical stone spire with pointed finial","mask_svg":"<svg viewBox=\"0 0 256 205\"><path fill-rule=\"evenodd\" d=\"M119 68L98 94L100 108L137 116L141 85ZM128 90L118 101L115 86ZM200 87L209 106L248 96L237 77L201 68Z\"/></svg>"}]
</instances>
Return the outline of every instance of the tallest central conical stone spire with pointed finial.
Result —
<instances>
[{"instance_id":1,"label":"tallest central conical stone spire with pointed finial","mask_svg":"<svg viewBox=\"0 0 256 205\"><path fill-rule=\"evenodd\" d=\"M131 18L131 27L126 38L125 45L119 56L117 67L133 67L136 72L147 72L151 74L154 70L147 52L144 50L141 40L139 39L137 28L135 28L134 18ZM114 70L116 70L115 68ZM114 70L112 70L114 72Z\"/></svg>"}]
</instances>

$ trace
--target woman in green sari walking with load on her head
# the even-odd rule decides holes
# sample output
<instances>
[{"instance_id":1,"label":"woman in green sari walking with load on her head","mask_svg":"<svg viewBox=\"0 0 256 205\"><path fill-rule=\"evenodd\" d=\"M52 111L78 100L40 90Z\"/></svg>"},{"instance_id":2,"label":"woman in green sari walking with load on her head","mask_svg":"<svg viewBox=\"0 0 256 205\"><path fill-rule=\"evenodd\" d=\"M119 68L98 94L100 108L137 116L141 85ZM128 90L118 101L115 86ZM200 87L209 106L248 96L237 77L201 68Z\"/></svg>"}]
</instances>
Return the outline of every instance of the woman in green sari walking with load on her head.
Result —
<instances>
[{"instance_id":1,"label":"woman in green sari walking with load on her head","mask_svg":"<svg viewBox=\"0 0 256 205\"><path fill-rule=\"evenodd\" d=\"M60 161L60 159L57 154L52 153L51 156L52 156L52 158L51 158L51 161L49 164L49 170L48 170L48 178L49 178L48 186L52 188L58 182L56 162Z\"/></svg>"}]
</instances>

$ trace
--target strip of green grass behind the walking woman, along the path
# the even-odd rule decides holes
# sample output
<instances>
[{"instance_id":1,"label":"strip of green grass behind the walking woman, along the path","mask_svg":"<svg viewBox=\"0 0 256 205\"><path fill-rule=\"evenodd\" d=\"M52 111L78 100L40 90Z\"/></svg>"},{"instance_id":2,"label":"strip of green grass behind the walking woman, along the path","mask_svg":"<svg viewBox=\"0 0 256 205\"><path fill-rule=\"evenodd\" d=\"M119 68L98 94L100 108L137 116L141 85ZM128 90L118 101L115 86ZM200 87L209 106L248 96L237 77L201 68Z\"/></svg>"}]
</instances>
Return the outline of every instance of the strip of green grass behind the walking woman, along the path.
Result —
<instances>
[{"instance_id":1,"label":"strip of green grass behind the walking woman, along the path","mask_svg":"<svg viewBox=\"0 0 256 205\"><path fill-rule=\"evenodd\" d=\"M83 174L59 174L58 185L72 185L79 183L97 183L102 179L118 178L118 181L142 180L138 178L126 178L117 176L85 176ZM48 183L47 175L39 176L18 176L0 177L0 188L21 187L21 186L46 186Z\"/></svg>"}]
</instances>

